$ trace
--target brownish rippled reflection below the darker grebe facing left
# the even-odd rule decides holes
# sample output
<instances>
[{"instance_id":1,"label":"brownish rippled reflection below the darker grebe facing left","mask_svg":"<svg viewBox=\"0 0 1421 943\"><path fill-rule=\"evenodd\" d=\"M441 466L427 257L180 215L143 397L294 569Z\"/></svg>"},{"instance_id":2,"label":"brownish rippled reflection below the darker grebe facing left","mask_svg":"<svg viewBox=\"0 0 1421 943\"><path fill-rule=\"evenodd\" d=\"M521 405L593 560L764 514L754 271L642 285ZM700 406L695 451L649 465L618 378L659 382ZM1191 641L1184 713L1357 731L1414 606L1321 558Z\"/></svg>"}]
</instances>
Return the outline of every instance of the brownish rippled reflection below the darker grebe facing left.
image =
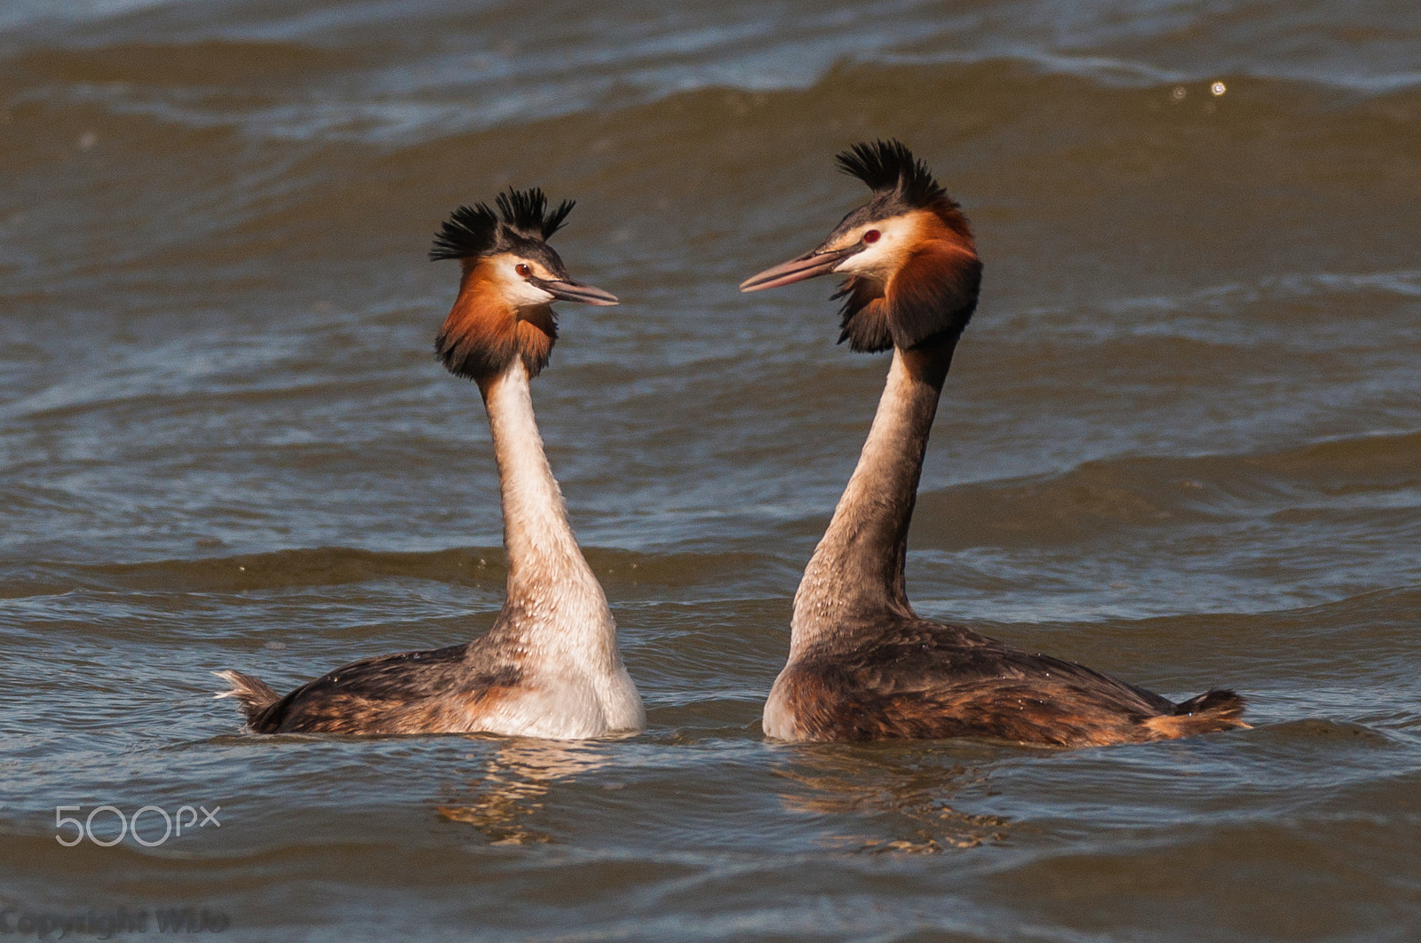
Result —
<instances>
[{"instance_id":1,"label":"brownish rippled reflection below the darker grebe facing left","mask_svg":"<svg viewBox=\"0 0 1421 943\"><path fill-rule=\"evenodd\" d=\"M794 788L780 792L791 812L833 817L831 848L867 854L934 855L1006 839L1015 827L1000 815L961 812L949 800L986 774L973 765L938 765L918 750L811 747L776 770Z\"/></svg>"}]
</instances>

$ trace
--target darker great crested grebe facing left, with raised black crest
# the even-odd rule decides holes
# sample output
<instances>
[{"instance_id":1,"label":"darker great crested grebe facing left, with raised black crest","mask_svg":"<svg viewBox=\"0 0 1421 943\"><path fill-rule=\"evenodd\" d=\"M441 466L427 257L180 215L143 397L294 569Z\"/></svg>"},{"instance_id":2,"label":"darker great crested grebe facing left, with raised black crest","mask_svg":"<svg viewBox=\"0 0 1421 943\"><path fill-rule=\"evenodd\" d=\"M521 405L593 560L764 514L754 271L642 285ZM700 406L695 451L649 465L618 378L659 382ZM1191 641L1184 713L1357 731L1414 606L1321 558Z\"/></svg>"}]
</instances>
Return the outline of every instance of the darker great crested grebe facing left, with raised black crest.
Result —
<instances>
[{"instance_id":1,"label":"darker great crested grebe facing left, with raised black crest","mask_svg":"<svg viewBox=\"0 0 1421 943\"><path fill-rule=\"evenodd\" d=\"M858 467L794 594L790 655L764 704L779 740L989 737L1061 747L1248 727L1243 699L1182 704L1049 655L1032 655L908 605L904 558L932 418L978 302L982 263L958 205L897 141L840 168L872 190L817 249L742 291L847 276L840 341L892 348Z\"/></svg>"}]
</instances>

